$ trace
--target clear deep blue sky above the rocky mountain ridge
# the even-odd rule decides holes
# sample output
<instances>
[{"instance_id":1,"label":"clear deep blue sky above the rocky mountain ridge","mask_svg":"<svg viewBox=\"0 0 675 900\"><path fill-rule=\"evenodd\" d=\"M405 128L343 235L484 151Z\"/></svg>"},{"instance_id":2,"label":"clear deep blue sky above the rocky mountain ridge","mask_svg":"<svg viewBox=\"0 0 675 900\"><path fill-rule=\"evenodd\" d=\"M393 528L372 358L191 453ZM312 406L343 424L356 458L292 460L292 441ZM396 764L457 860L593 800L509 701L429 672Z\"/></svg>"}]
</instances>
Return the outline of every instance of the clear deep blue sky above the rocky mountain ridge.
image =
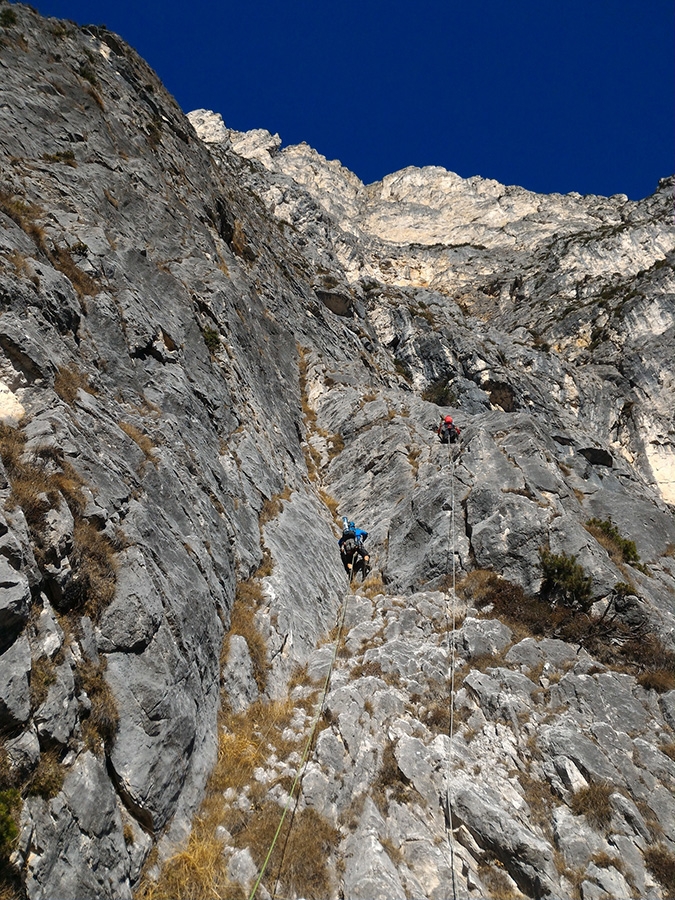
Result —
<instances>
[{"instance_id":1,"label":"clear deep blue sky above the rocky mountain ridge","mask_svg":"<svg viewBox=\"0 0 675 900\"><path fill-rule=\"evenodd\" d=\"M185 112L366 183L440 165L639 199L675 168L672 0L34 2L118 32Z\"/></svg>"}]
</instances>

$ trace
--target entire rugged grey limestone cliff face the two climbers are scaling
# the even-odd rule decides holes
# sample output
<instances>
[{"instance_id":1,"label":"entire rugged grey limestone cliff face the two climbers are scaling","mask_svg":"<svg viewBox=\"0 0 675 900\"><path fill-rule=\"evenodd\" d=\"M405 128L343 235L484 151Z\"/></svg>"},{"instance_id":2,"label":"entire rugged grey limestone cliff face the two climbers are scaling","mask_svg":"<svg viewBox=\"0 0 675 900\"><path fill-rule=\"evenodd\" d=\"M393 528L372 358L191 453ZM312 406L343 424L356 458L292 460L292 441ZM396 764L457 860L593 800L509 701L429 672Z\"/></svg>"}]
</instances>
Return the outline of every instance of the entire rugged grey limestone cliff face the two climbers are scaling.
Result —
<instances>
[{"instance_id":1,"label":"entire rugged grey limestone cliff face the two climbers are scaling","mask_svg":"<svg viewBox=\"0 0 675 900\"><path fill-rule=\"evenodd\" d=\"M130 897L220 755L250 886L342 610L298 814L325 880L288 891L662 896L672 181L364 186L191 124L104 29L0 23L5 879ZM336 513L370 532L355 593Z\"/></svg>"}]
</instances>

